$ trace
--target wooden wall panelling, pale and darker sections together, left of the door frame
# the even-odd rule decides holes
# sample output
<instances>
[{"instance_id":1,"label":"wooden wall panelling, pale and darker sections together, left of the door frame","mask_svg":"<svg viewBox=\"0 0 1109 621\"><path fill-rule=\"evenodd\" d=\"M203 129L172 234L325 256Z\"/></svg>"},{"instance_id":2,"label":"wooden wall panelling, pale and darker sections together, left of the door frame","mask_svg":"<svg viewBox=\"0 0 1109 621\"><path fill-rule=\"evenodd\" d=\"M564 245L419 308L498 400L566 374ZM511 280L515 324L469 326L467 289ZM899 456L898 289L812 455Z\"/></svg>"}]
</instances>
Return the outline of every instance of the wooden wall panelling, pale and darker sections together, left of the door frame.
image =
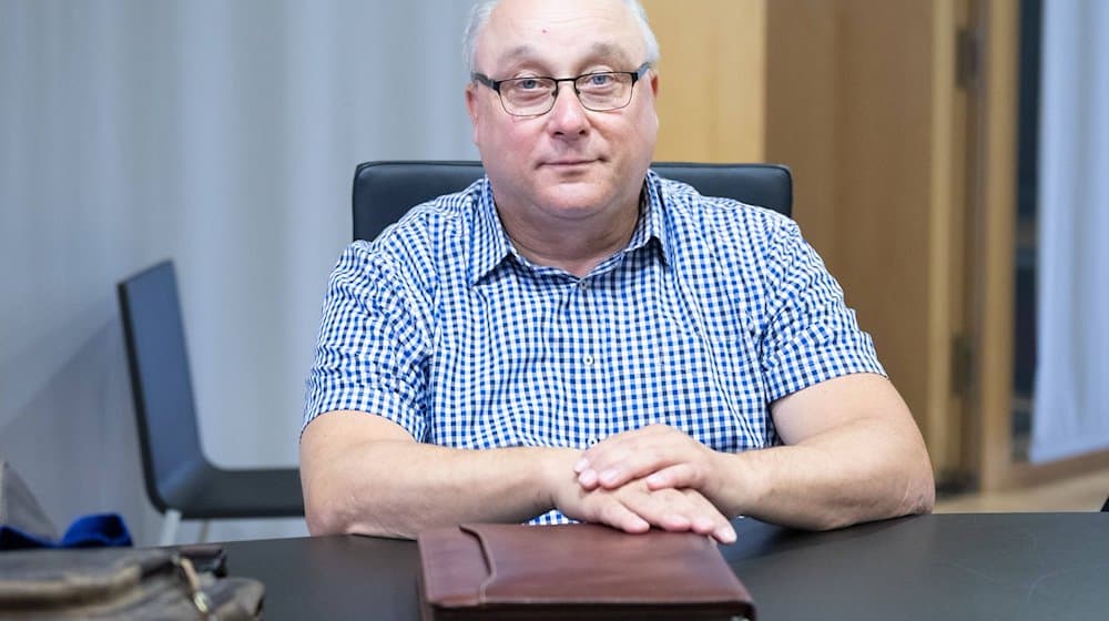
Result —
<instances>
[{"instance_id":1,"label":"wooden wall panelling, pale and darker sections together, left of the door frame","mask_svg":"<svg viewBox=\"0 0 1109 621\"><path fill-rule=\"evenodd\" d=\"M954 22L966 1L644 2L662 45L657 159L793 169L795 218L940 470L959 460L950 364L966 143Z\"/></svg>"}]
</instances>

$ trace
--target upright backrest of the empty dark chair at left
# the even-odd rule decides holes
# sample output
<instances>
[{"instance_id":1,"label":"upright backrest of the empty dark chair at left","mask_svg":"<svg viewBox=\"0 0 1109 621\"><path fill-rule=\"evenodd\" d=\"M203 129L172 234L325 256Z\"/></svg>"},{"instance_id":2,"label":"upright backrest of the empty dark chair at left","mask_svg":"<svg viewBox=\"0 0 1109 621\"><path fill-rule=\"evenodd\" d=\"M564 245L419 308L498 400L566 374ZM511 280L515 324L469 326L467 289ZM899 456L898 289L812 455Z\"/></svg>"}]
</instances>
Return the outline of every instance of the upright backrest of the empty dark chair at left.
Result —
<instances>
[{"instance_id":1,"label":"upright backrest of the empty dark chair at left","mask_svg":"<svg viewBox=\"0 0 1109 621\"><path fill-rule=\"evenodd\" d=\"M173 263L163 261L118 286L143 476L151 502L172 506L173 481L205 468Z\"/></svg>"}]
</instances>

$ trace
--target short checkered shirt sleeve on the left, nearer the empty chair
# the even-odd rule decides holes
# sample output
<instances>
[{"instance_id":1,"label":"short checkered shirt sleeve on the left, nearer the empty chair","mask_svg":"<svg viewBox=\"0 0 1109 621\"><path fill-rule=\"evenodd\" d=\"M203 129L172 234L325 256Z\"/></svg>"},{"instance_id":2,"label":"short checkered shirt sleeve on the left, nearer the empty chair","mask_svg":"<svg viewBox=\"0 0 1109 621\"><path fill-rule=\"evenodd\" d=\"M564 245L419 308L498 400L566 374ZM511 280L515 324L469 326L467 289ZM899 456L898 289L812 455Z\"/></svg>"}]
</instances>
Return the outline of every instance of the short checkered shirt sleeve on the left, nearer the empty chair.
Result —
<instances>
[{"instance_id":1,"label":"short checkered shirt sleeve on the left, nearer the empty chair","mask_svg":"<svg viewBox=\"0 0 1109 621\"><path fill-rule=\"evenodd\" d=\"M414 289L365 243L346 248L327 283L302 432L321 414L357 410L424 440L429 345Z\"/></svg>"}]
</instances>

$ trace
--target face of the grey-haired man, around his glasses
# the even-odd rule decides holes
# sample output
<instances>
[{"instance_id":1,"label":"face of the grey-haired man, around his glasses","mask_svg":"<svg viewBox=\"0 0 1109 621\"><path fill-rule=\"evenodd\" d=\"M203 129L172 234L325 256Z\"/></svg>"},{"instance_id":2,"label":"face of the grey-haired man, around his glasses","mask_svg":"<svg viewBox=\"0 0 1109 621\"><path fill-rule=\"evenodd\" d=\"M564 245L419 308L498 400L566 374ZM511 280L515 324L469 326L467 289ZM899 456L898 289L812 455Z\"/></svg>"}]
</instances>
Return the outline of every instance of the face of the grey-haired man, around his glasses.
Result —
<instances>
[{"instance_id":1,"label":"face of the grey-haired man, around his glasses","mask_svg":"<svg viewBox=\"0 0 1109 621\"><path fill-rule=\"evenodd\" d=\"M634 71L647 60L634 17L619 0L505 0L477 42L477 71L494 80ZM649 71L619 110L582 108L570 82L547 114L508 114L497 93L470 84L474 142L502 217L582 220L634 210L654 154L658 78Z\"/></svg>"}]
</instances>

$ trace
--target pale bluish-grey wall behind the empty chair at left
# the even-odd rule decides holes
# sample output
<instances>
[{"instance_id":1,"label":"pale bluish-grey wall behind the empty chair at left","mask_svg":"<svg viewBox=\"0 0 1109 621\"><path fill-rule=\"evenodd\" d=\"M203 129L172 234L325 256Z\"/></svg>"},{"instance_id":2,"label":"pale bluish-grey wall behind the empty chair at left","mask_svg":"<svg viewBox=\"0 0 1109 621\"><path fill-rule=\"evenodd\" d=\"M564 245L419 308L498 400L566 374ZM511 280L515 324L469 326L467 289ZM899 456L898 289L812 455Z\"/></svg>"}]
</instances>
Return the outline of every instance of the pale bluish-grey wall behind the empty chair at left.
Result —
<instances>
[{"instance_id":1,"label":"pale bluish-grey wall behind the empty chair at left","mask_svg":"<svg viewBox=\"0 0 1109 621\"><path fill-rule=\"evenodd\" d=\"M0 0L0 456L60 527L119 511L156 538L114 287L161 258L210 457L295 464L355 165L477 157L470 4Z\"/></svg>"}]
</instances>

